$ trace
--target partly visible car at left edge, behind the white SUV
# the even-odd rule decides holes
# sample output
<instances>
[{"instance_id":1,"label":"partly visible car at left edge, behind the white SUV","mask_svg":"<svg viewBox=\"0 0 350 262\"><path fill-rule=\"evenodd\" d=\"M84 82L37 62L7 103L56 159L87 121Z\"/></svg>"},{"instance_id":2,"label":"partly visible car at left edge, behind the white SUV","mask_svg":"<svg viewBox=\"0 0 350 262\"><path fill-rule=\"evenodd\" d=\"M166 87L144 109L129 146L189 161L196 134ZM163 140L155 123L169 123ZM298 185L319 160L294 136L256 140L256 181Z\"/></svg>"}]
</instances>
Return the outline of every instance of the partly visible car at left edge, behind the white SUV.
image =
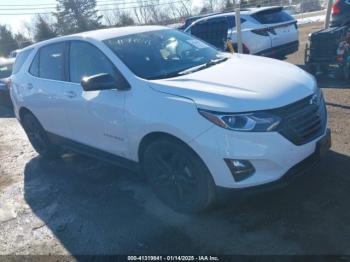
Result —
<instances>
[{"instance_id":1,"label":"partly visible car at left edge, behind the white SUV","mask_svg":"<svg viewBox=\"0 0 350 262\"><path fill-rule=\"evenodd\" d=\"M3 59L0 63L0 106L12 107L8 87L13 63L14 59Z\"/></svg>"}]
</instances>

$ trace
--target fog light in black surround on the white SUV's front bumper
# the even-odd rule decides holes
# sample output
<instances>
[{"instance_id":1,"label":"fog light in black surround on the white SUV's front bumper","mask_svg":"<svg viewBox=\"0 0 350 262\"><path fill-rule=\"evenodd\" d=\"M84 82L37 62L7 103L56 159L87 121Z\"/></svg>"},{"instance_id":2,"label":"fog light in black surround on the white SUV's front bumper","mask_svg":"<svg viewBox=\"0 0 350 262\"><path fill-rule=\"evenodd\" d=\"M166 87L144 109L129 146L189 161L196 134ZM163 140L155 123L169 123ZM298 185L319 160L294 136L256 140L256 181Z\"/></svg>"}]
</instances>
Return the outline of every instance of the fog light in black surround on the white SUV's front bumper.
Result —
<instances>
[{"instance_id":1,"label":"fog light in black surround on the white SUV's front bumper","mask_svg":"<svg viewBox=\"0 0 350 262\"><path fill-rule=\"evenodd\" d=\"M247 179L255 172L255 168L248 160L224 159L235 181Z\"/></svg>"}]
</instances>

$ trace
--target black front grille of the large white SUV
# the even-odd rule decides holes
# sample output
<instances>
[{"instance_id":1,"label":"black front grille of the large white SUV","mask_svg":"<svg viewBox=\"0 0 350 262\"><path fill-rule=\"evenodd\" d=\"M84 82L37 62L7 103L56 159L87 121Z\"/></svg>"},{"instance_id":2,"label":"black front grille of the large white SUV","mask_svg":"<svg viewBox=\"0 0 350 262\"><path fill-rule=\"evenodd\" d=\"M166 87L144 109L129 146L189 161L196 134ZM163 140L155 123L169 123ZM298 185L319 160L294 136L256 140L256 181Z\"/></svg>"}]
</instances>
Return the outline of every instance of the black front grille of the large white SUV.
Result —
<instances>
[{"instance_id":1,"label":"black front grille of the large white SUV","mask_svg":"<svg viewBox=\"0 0 350 262\"><path fill-rule=\"evenodd\" d=\"M281 117L279 133L295 145L306 144L322 135L326 129L327 113L322 95L313 103L313 96L273 110Z\"/></svg>"}]
</instances>

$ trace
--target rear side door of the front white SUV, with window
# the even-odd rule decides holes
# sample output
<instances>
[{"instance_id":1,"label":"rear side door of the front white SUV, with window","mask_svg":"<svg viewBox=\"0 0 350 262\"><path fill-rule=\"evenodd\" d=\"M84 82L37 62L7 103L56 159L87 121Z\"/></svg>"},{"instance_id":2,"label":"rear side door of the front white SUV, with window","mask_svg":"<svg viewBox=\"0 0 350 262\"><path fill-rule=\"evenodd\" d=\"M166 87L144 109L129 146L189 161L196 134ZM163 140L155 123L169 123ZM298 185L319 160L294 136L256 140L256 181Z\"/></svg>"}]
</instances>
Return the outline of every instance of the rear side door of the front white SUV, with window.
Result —
<instances>
[{"instance_id":1,"label":"rear side door of the front white SUV, with window","mask_svg":"<svg viewBox=\"0 0 350 262\"><path fill-rule=\"evenodd\" d=\"M41 47L29 68L27 82L23 90L29 108L38 117L48 132L70 137L65 107L68 88L66 76L67 42L59 42Z\"/></svg>"}]
</instances>

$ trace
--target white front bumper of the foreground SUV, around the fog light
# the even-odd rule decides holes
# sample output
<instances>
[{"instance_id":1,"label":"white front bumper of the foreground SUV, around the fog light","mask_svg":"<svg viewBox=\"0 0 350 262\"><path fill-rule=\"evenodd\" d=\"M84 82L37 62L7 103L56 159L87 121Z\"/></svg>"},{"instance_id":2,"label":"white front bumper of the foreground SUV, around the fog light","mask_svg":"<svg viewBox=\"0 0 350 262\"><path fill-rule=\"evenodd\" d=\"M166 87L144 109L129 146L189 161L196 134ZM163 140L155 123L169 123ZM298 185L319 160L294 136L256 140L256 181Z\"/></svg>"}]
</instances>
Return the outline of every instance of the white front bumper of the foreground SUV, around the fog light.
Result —
<instances>
[{"instance_id":1,"label":"white front bumper of the foreground SUV, around the fog light","mask_svg":"<svg viewBox=\"0 0 350 262\"><path fill-rule=\"evenodd\" d=\"M304 145L294 145L277 132L233 132L214 126L192 141L191 146L210 170L215 184L226 189L274 187L286 184L319 158L319 141L329 130ZM328 150L328 148L327 148ZM324 152L323 148L323 152ZM255 173L235 181L224 159L249 160ZM278 182L277 182L278 181Z\"/></svg>"}]
</instances>

